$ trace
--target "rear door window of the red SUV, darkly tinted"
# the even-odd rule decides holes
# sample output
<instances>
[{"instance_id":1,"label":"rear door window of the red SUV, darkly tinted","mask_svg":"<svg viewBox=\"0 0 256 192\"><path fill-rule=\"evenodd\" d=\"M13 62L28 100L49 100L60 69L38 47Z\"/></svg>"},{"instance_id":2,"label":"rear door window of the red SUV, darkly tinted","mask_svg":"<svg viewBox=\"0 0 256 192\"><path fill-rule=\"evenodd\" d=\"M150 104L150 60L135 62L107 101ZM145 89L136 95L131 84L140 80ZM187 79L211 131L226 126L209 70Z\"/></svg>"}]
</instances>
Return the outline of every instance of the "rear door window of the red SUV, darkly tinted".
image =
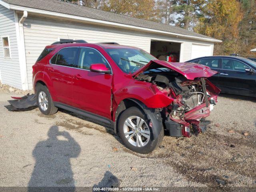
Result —
<instances>
[{"instance_id":1,"label":"rear door window of the red SUV, darkly tinted","mask_svg":"<svg viewBox=\"0 0 256 192\"><path fill-rule=\"evenodd\" d=\"M60 50L51 59L52 64L74 67L78 48L70 47Z\"/></svg>"}]
</instances>

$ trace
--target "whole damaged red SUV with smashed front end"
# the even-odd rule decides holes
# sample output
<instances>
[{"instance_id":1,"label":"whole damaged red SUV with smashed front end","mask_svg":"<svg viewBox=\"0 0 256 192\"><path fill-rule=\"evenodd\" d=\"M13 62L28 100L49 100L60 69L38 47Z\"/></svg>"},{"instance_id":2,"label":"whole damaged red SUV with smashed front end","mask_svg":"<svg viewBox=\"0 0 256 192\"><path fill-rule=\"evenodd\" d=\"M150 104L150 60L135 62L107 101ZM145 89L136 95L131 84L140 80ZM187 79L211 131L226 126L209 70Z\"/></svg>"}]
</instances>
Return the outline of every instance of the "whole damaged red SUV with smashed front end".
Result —
<instances>
[{"instance_id":1,"label":"whole damaged red SUV with smashed front end","mask_svg":"<svg viewBox=\"0 0 256 192\"><path fill-rule=\"evenodd\" d=\"M194 63L157 60L139 48L83 40L46 46L33 66L40 111L63 108L112 124L138 153L153 151L164 130L189 137L206 129L220 90L217 72Z\"/></svg>"}]
</instances>

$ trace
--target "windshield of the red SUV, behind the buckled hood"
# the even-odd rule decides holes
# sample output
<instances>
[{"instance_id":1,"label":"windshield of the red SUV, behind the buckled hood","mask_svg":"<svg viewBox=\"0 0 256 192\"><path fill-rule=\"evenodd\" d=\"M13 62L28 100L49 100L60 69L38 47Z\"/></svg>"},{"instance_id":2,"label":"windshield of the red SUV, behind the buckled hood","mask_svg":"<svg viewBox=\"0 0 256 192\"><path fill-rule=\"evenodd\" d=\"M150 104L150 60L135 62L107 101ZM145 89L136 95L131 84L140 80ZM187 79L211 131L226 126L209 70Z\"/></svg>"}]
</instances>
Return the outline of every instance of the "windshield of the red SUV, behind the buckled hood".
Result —
<instances>
[{"instance_id":1,"label":"windshield of the red SUV, behind the buckled hood","mask_svg":"<svg viewBox=\"0 0 256 192\"><path fill-rule=\"evenodd\" d=\"M156 58L138 48L108 48L106 52L125 73L133 73Z\"/></svg>"}]
</instances>

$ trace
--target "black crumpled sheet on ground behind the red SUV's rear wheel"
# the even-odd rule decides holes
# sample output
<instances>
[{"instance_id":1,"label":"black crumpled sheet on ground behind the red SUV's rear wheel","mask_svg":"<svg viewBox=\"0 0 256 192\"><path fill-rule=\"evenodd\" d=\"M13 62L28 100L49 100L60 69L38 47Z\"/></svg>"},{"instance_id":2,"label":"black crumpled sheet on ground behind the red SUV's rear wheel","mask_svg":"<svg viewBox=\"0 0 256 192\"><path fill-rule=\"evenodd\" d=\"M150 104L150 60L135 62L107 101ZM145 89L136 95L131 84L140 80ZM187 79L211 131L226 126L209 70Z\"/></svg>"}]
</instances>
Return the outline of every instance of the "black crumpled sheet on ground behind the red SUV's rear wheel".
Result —
<instances>
[{"instance_id":1,"label":"black crumpled sheet on ground behind the red SUV's rear wheel","mask_svg":"<svg viewBox=\"0 0 256 192\"><path fill-rule=\"evenodd\" d=\"M19 99L8 100L8 102L10 105L6 105L5 107L9 111L28 111L37 108L35 94L27 94Z\"/></svg>"}]
</instances>

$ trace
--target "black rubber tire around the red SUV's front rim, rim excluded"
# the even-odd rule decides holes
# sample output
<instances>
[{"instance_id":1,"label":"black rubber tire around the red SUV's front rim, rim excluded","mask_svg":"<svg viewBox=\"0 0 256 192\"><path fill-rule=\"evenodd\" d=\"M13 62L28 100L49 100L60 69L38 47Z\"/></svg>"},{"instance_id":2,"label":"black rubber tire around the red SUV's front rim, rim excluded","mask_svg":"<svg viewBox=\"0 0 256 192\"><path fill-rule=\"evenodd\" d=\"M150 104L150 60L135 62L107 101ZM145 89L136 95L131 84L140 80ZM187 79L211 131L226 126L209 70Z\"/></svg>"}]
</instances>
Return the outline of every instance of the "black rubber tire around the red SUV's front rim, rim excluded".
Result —
<instances>
[{"instance_id":1,"label":"black rubber tire around the red SUV's front rim, rim excluded","mask_svg":"<svg viewBox=\"0 0 256 192\"><path fill-rule=\"evenodd\" d=\"M138 116L140 118L142 118L146 124L148 125L148 128L150 130L150 139L148 141L148 143L145 146L134 146L133 144L131 144L128 139L126 139L126 136L124 134L124 123L126 121L126 119L128 117L131 116ZM154 125L152 126L154 129ZM141 153L141 154L147 154L152 152L154 149L158 148L158 146L161 144L162 139L164 137L164 129L163 127L161 128L160 134L155 135L153 134L152 127L149 126L149 120L146 116L146 114L144 114L139 108L137 107L130 107L128 109L126 109L120 116L119 120L118 120L118 132L120 135L120 138L122 140L122 142L125 144L125 146L127 148L129 148L130 150L137 152L137 153ZM132 140L135 140L132 138Z\"/></svg>"}]
</instances>

